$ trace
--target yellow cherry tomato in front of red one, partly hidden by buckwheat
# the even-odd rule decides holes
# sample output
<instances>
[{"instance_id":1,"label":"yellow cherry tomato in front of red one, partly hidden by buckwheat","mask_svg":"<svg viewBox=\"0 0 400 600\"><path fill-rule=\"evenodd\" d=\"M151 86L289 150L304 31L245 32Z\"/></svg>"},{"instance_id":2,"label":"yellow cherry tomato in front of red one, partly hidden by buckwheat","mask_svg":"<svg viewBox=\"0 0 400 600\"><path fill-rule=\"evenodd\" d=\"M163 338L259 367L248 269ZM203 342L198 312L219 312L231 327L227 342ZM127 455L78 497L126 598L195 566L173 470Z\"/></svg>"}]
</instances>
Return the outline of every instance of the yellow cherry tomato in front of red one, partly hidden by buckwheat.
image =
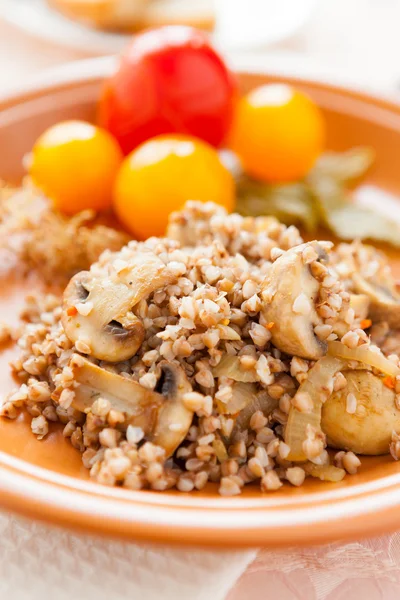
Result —
<instances>
[{"instance_id":1,"label":"yellow cherry tomato in front of red one, partly hidden by buckwheat","mask_svg":"<svg viewBox=\"0 0 400 600\"><path fill-rule=\"evenodd\" d=\"M235 185L214 148L183 135L141 144L118 174L114 208L139 239L164 235L169 214L187 200L213 201L232 211Z\"/></svg>"}]
</instances>

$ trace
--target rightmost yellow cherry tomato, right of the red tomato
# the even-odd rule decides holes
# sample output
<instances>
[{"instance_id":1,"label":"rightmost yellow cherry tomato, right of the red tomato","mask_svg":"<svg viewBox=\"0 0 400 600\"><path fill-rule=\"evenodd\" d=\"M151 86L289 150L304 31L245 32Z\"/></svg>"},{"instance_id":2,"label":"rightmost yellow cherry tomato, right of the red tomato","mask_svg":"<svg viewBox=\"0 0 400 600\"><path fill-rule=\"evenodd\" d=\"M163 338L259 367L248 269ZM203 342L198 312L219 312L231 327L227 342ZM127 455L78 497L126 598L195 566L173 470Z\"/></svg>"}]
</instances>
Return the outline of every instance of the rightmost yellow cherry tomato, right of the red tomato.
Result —
<instances>
[{"instance_id":1,"label":"rightmost yellow cherry tomato, right of the red tomato","mask_svg":"<svg viewBox=\"0 0 400 600\"><path fill-rule=\"evenodd\" d=\"M229 146L249 175L285 182L310 170L324 138L324 119L314 102L288 85L270 84L239 101Z\"/></svg>"}]
</instances>

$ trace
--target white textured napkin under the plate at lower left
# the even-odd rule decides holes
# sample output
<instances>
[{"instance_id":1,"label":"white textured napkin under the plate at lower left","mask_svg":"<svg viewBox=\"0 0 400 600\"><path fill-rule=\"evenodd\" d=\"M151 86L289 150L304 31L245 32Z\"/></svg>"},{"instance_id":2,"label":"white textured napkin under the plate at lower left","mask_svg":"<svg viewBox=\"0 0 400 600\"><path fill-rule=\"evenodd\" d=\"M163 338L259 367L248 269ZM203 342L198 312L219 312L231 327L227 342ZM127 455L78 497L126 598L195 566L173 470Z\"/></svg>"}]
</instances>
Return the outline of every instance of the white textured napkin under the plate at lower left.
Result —
<instances>
[{"instance_id":1,"label":"white textured napkin under the plate at lower left","mask_svg":"<svg viewBox=\"0 0 400 600\"><path fill-rule=\"evenodd\" d=\"M0 513L0 598L223 600L256 553L122 543Z\"/></svg>"}]
</instances>

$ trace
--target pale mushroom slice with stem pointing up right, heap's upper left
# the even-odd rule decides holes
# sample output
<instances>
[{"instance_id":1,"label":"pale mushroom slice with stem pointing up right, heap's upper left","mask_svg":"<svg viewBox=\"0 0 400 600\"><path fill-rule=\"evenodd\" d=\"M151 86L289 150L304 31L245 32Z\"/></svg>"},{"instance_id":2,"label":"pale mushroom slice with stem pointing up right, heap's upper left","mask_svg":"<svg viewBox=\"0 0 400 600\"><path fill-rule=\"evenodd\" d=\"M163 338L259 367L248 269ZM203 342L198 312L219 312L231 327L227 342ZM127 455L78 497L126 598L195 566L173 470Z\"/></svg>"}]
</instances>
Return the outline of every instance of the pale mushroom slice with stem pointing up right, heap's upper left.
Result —
<instances>
[{"instance_id":1,"label":"pale mushroom slice with stem pointing up right, heap's upper left","mask_svg":"<svg viewBox=\"0 0 400 600\"><path fill-rule=\"evenodd\" d=\"M131 309L151 292L176 279L155 254L138 252L118 274L100 278L75 275L64 292L62 324L68 338L84 342L99 360L119 362L140 348L145 330ZM87 304L87 314L76 305ZM86 311L83 311L86 313Z\"/></svg>"}]
</instances>

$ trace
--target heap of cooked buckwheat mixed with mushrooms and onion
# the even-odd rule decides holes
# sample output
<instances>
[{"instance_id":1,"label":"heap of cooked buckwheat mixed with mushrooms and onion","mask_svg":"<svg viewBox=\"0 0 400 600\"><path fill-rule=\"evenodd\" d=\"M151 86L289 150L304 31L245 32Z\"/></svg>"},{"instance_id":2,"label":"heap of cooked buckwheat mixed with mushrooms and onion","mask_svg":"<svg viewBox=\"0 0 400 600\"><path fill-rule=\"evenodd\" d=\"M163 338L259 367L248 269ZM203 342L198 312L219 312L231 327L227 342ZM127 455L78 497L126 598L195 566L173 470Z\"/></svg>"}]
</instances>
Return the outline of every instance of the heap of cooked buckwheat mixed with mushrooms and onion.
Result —
<instances>
[{"instance_id":1,"label":"heap of cooked buckwheat mixed with mushrooms and onion","mask_svg":"<svg viewBox=\"0 0 400 600\"><path fill-rule=\"evenodd\" d=\"M39 439L61 421L106 485L190 492L213 481L235 495L253 481L272 491L307 476L340 480L360 465L353 452L332 458L308 425L304 460L291 460L285 427L291 411L312 412L298 390L329 344L381 356L364 331L368 295L353 302L360 272L367 283L390 281L381 253L360 243L303 243L274 218L190 202L171 216L166 238L105 251L73 278L63 305L28 299L12 364L21 386L2 415L26 408ZM387 343L381 321L376 338ZM398 369L397 355L389 361ZM346 386L339 370L321 397ZM389 387L395 402L400 380ZM397 458L395 435L391 450Z\"/></svg>"}]
</instances>

